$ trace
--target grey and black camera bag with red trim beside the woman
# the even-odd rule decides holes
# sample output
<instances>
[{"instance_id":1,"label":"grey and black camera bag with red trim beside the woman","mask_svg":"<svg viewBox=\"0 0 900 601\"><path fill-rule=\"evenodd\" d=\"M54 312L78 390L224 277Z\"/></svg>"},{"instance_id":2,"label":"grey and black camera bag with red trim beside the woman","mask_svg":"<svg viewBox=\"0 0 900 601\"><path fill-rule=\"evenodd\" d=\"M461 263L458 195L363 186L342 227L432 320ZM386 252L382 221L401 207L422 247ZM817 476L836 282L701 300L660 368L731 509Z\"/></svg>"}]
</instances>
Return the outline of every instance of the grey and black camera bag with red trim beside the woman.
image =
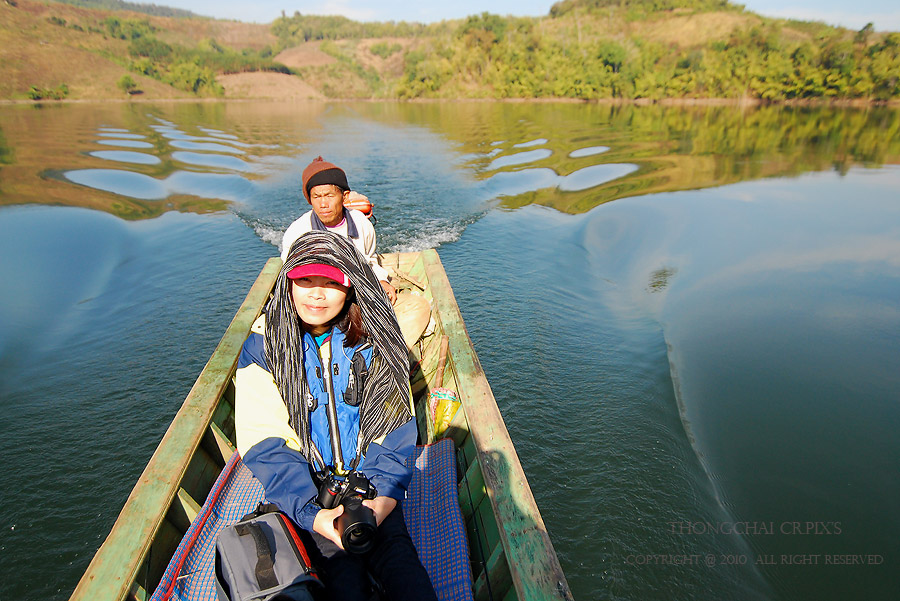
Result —
<instances>
[{"instance_id":1,"label":"grey and black camera bag with red trim beside the woman","mask_svg":"<svg viewBox=\"0 0 900 601\"><path fill-rule=\"evenodd\" d=\"M260 503L216 537L219 601L316 601L321 590L297 526L274 505Z\"/></svg>"}]
</instances>

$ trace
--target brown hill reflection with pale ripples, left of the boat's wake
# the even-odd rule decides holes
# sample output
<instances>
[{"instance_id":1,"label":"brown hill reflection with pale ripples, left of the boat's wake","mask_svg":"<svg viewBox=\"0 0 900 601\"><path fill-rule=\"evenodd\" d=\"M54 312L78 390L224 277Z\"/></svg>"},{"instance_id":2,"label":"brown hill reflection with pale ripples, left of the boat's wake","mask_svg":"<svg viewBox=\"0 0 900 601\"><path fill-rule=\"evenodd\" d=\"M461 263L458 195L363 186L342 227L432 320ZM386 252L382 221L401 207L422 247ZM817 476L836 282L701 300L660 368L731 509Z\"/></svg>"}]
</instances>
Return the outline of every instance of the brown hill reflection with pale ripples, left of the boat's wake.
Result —
<instances>
[{"instance_id":1,"label":"brown hill reflection with pale ripples, left of the boat's wake","mask_svg":"<svg viewBox=\"0 0 900 601\"><path fill-rule=\"evenodd\" d=\"M76 206L123 219L222 211L247 193L230 182L249 184L268 161L283 160L279 153L316 126L321 110L274 103L5 107L0 162L9 157L9 164L0 168L0 206ZM116 156L124 159L107 158ZM142 156L153 160L129 159ZM124 183L112 188L121 193L73 183L73 173L104 169L121 174ZM164 197L140 198L146 190L137 188L148 187L141 182Z\"/></svg>"}]
</instances>

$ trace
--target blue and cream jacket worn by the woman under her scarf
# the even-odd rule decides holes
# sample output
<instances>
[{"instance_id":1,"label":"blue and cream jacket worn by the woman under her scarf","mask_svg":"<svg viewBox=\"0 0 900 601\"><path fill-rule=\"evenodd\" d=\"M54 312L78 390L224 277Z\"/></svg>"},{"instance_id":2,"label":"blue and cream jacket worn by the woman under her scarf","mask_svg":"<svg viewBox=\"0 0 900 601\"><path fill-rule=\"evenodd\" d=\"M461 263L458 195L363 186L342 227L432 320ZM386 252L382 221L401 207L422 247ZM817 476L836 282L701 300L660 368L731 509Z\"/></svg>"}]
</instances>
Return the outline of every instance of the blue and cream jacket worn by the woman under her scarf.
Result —
<instances>
[{"instance_id":1,"label":"blue and cream jacket worn by the woman under her scarf","mask_svg":"<svg viewBox=\"0 0 900 601\"><path fill-rule=\"evenodd\" d=\"M311 465L300 452L297 433L290 426L287 407L281 398L265 358L264 318L254 324L244 342L235 374L235 429L238 451L247 467L263 487L270 502L291 515L300 526L312 530L319 511L315 504L318 492L313 472L322 466ZM336 349L335 352L329 352ZM333 465L329 436L327 406L332 402L323 377L323 362L314 339L304 335L304 367L310 413L311 439L326 465ZM329 373L334 374L334 403L337 409L341 452L345 469L349 469L357 455L359 436L359 407L344 402L351 377L351 362L361 354L368 368L380 359L369 345L344 346L344 334L333 330L330 343L323 344L322 355L329 357ZM379 496L402 499L412 477L404 465L416 443L415 419L376 440L363 450L356 469L375 486ZM314 460L313 460L314 461Z\"/></svg>"}]
</instances>

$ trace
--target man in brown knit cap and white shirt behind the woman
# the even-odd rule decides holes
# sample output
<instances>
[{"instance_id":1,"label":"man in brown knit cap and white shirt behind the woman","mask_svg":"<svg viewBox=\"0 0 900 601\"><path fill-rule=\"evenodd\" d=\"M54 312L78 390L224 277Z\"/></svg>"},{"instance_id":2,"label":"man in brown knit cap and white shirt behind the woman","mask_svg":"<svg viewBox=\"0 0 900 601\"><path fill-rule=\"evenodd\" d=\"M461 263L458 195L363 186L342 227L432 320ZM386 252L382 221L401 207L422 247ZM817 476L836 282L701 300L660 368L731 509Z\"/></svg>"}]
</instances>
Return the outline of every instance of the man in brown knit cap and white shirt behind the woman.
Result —
<instances>
[{"instance_id":1,"label":"man in brown knit cap and white shirt behind the woman","mask_svg":"<svg viewBox=\"0 0 900 601\"><path fill-rule=\"evenodd\" d=\"M322 157L316 157L303 170L302 182L303 195L312 205L312 211L302 215L284 232L281 259L287 259L291 245L306 232L334 232L353 242L375 272L391 304L394 304L397 291L388 281L387 270L378 262L375 228L361 212L344 207L344 201L350 196L350 184L344 171Z\"/></svg>"}]
</instances>

